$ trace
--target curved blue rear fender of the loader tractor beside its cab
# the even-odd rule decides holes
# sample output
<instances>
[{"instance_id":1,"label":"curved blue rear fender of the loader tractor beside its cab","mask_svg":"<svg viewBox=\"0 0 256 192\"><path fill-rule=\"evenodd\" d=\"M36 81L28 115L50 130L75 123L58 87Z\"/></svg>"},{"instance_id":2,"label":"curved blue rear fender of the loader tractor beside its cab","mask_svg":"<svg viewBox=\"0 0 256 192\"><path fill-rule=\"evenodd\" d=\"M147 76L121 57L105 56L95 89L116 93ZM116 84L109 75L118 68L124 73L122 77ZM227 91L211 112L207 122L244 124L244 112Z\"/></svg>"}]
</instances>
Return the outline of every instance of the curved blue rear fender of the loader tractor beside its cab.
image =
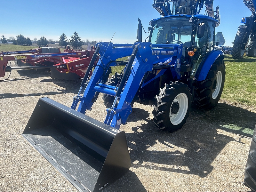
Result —
<instances>
[{"instance_id":1,"label":"curved blue rear fender of the loader tractor beside its cab","mask_svg":"<svg viewBox=\"0 0 256 192\"><path fill-rule=\"evenodd\" d=\"M202 66L201 70L196 75L197 81L205 80L208 72L210 71L210 68L218 58L221 60L224 59L224 53L221 50L212 50L204 57L200 64L200 66Z\"/></svg>"}]
</instances>

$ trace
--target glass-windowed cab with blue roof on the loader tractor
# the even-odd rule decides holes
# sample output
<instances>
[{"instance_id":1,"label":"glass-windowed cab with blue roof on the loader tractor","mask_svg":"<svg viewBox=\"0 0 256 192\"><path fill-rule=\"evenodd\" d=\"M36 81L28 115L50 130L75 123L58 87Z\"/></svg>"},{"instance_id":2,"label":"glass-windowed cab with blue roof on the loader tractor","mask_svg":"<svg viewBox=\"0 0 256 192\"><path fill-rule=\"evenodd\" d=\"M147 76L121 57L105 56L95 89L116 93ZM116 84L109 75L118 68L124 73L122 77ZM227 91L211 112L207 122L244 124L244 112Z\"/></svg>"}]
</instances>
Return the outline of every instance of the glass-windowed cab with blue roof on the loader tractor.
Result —
<instances>
[{"instance_id":1,"label":"glass-windowed cab with blue roof on the loader tractor","mask_svg":"<svg viewBox=\"0 0 256 192\"><path fill-rule=\"evenodd\" d=\"M149 22L152 26L149 42L182 46L181 65L193 65L193 79L204 56L214 50L217 22L206 15L170 15L153 19Z\"/></svg>"}]
</instances>

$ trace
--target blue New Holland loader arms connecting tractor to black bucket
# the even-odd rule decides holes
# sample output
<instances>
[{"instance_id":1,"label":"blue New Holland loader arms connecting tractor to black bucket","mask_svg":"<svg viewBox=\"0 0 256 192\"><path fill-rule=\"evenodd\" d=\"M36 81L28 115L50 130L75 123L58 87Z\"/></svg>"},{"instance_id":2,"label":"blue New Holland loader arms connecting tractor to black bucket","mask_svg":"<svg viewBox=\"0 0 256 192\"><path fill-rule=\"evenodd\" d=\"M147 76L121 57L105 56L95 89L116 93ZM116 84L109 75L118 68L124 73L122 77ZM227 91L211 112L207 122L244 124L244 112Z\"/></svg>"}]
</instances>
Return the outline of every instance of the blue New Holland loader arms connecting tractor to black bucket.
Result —
<instances>
[{"instance_id":1,"label":"blue New Holland loader arms connecting tractor to black bucket","mask_svg":"<svg viewBox=\"0 0 256 192\"><path fill-rule=\"evenodd\" d=\"M85 114L86 110L91 110L93 102L95 101L95 95L98 95L99 92L114 97L117 96L120 98L117 108L107 109L108 114L104 123L119 129L120 125L125 124L128 116L132 113L131 103L143 82L145 73L153 70L153 63L156 63L157 60L172 57L175 58L174 60L178 59L179 62L182 45L159 45L144 42L133 44L133 49L115 48L116 44L110 44L108 46L108 43L100 43L98 46L100 47L100 55L102 56L93 71L91 79L84 90L83 96L74 97L71 108L76 109L78 102L80 102L77 111ZM170 47L174 47L173 50L166 49ZM138 50L135 51L136 49ZM131 72L130 75L127 76L127 79L125 76L123 77L125 80L124 87L122 85L119 87L107 85L101 81L104 71L107 71L108 67L115 65L114 62L111 63L111 60L116 60L117 58L133 54L135 54L134 60L130 59L127 64L127 66L129 66L129 63L132 64L132 67L125 69ZM180 63L174 62L172 68L174 72L179 73ZM120 84L122 84L122 81ZM120 92L120 90L121 93L119 96L117 95L117 92Z\"/></svg>"}]
</instances>

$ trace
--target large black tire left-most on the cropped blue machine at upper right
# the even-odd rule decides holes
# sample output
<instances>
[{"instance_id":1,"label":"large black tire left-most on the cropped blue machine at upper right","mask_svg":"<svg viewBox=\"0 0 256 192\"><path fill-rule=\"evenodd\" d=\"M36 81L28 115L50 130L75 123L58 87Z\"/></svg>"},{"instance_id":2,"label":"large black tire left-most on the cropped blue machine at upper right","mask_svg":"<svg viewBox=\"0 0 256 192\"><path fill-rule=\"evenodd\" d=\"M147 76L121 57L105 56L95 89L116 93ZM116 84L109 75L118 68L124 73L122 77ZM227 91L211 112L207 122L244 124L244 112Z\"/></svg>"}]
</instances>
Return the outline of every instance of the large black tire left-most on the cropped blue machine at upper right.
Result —
<instances>
[{"instance_id":1,"label":"large black tire left-most on the cropped blue machine at upper right","mask_svg":"<svg viewBox=\"0 0 256 192\"><path fill-rule=\"evenodd\" d=\"M248 42L248 39L246 38L247 34L248 32L246 28L238 29L236 33L234 45L233 45L233 53L232 53L233 59L242 59L244 57L244 52L246 48L245 49L242 49L242 48L243 48L243 45L247 44Z\"/></svg>"}]
</instances>

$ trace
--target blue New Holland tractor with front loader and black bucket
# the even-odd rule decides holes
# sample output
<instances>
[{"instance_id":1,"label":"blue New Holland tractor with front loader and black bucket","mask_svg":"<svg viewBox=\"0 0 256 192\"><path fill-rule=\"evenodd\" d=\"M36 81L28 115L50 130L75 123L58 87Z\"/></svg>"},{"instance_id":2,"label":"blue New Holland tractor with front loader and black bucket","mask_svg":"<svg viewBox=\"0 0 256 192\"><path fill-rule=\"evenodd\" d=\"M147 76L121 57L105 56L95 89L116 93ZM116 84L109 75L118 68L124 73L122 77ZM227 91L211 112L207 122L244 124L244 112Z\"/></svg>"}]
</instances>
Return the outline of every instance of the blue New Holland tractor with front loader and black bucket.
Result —
<instances>
[{"instance_id":1,"label":"blue New Holland tractor with front loader and black bucket","mask_svg":"<svg viewBox=\"0 0 256 192\"><path fill-rule=\"evenodd\" d=\"M199 14L204 4L208 15ZM153 7L162 17L149 22L147 42L139 20L134 44L98 43L72 107L40 98L22 134L80 191L101 191L131 167L119 127L134 102L153 105L156 127L174 132L192 102L211 109L220 100L224 54L214 49L219 8L213 11L212 0L155 0ZM109 78L116 60L126 56L122 72ZM99 93L107 107L104 123L84 115Z\"/></svg>"}]
</instances>

